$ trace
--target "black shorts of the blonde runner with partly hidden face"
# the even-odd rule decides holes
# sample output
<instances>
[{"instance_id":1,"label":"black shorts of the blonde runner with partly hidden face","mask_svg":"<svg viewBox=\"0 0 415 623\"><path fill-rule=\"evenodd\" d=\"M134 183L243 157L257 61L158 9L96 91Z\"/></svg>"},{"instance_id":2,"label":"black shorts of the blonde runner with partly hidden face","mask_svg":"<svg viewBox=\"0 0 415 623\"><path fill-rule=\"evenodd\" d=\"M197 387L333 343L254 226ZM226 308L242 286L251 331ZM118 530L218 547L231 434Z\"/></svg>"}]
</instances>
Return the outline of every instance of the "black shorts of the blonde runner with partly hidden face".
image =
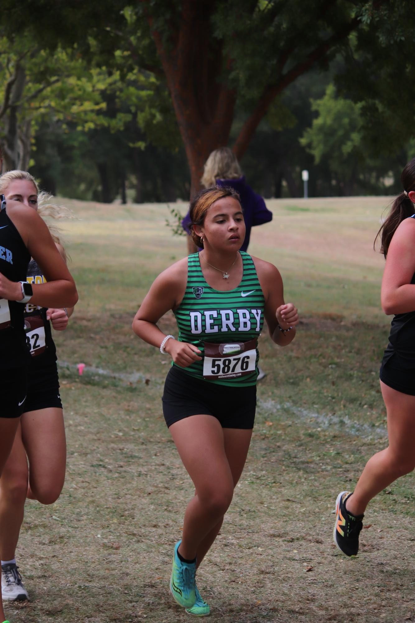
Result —
<instances>
[{"instance_id":1,"label":"black shorts of the blonde runner with partly hidden face","mask_svg":"<svg viewBox=\"0 0 415 623\"><path fill-rule=\"evenodd\" d=\"M62 409L56 361L37 363L34 358L31 364L27 375L27 398L23 412L39 411L49 407Z\"/></svg>"}]
</instances>

